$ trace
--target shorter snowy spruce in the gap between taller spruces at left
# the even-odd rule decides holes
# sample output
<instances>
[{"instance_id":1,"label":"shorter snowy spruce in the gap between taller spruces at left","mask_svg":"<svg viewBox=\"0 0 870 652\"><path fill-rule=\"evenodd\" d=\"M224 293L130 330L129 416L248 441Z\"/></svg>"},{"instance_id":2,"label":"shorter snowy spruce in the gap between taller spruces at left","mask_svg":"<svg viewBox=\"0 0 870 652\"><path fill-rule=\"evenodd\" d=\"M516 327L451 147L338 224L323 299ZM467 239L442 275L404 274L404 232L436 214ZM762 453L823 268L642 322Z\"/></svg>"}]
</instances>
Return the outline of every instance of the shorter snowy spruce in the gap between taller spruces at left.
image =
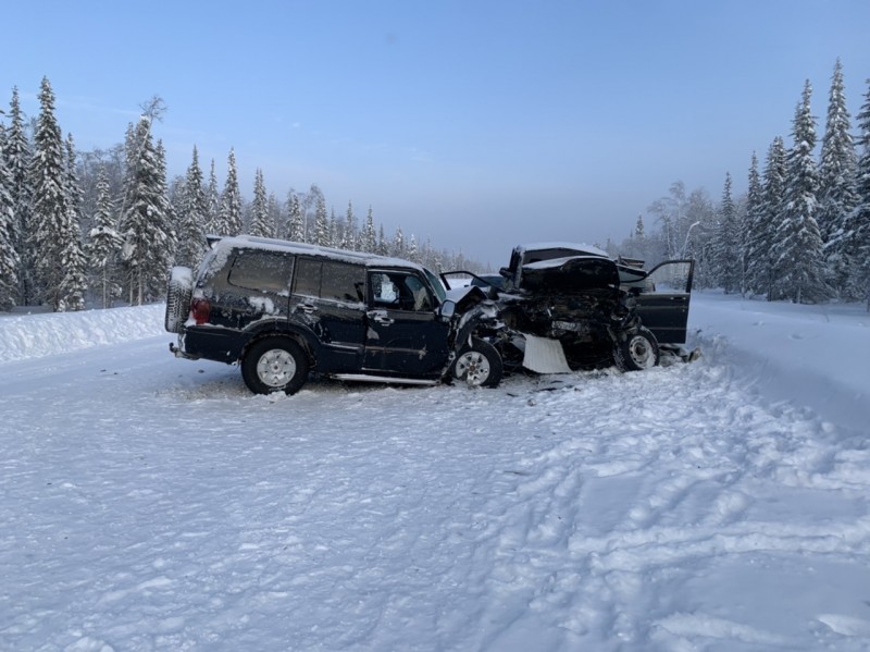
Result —
<instances>
[{"instance_id":1,"label":"shorter snowy spruce in the gap between taller spruces at left","mask_svg":"<svg viewBox=\"0 0 870 652\"><path fill-rule=\"evenodd\" d=\"M115 267L124 241L115 229L114 207L109 188L105 168L100 168L97 176L97 208L94 213L94 227L90 230L90 244L86 255L94 271L94 280L100 291L103 308L112 305L120 296L121 286L114 278Z\"/></svg>"}]
</instances>

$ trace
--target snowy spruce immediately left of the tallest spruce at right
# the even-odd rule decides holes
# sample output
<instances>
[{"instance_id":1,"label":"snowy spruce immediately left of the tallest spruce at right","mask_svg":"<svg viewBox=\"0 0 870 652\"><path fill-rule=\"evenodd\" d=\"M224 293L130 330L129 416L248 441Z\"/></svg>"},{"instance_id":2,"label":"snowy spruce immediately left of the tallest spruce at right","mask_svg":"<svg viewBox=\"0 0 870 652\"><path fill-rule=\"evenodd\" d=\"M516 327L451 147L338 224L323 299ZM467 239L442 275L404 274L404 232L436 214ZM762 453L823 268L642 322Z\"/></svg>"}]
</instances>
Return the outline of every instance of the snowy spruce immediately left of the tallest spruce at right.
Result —
<instances>
[{"instance_id":1,"label":"snowy spruce immediately left of the tallest spruce at right","mask_svg":"<svg viewBox=\"0 0 870 652\"><path fill-rule=\"evenodd\" d=\"M778 285L783 296L798 304L822 300L829 291L823 278L823 243L816 222L819 181L812 156L816 119L810 110L811 95L807 79L795 110L794 146L786 158L785 206L776 227Z\"/></svg>"}]
</instances>

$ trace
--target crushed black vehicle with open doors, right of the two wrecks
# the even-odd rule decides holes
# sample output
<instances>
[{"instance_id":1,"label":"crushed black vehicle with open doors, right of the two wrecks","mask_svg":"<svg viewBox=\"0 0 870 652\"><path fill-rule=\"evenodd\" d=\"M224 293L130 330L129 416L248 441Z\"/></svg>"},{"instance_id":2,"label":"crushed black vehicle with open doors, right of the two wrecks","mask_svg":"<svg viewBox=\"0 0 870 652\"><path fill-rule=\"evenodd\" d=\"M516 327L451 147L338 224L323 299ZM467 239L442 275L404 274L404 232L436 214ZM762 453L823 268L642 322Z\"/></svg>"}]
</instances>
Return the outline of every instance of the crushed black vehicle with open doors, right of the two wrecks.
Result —
<instances>
[{"instance_id":1,"label":"crushed black vehicle with open doors, right of the two wrecks","mask_svg":"<svg viewBox=\"0 0 870 652\"><path fill-rule=\"evenodd\" d=\"M666 350L683 357L693 270L672 260L647 272L642 261L554 243L515 247L497 281L446 275L490 286L502 328L485 336L508 367L558 372L646 369Z\"/></svg>"}]
</instances>

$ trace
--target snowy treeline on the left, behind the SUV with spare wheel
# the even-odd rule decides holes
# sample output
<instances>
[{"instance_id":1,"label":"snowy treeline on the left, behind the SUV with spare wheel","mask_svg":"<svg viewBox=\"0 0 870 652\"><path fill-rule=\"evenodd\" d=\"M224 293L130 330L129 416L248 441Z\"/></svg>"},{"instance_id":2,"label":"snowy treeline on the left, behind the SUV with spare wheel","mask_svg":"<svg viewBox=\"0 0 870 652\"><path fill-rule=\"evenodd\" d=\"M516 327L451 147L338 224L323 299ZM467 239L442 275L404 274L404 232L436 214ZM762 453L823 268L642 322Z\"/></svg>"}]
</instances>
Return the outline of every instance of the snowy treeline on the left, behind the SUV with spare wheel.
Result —
<instances>
[{"instance_id":1,"label":"snowy treeline on the left, behind the SUV with spare wheel","mask_svg":"<svg viewBox=\"0 0 870 652\"><path fill-rule=\"evenodd\" d=\"M477 269L462 253L419 243L401 227L385 235L370 207L358 220L352 202L336 216L316 184L279 200L257 170L253 196L243 198L235 152L219 188L196 146L187 172L167 180L165 151L152 127L164 111L153 98L123 144L76 152L62 137L48 78L39 115L27 120L12 90L0 122L0 310L48 306L145 304L164 298L173 265L195 267L206 235L250 233L411 259L430 268Z\"/></svg>"}]
</instances>

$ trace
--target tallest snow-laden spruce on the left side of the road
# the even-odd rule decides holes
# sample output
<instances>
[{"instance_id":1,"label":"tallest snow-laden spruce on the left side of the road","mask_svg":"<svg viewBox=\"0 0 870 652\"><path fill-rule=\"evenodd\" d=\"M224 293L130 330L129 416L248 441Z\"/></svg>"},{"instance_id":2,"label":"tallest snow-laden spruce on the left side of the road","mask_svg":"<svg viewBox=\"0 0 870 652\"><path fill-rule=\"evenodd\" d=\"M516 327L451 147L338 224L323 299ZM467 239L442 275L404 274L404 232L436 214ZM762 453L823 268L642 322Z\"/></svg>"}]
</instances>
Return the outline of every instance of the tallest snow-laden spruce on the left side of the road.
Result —
<instances>
[{"instance_id":1,"label":"tallest snow-laden spruce on the left side of the road","mask_svg":"<svg viewBox=\"0 0 870 652\"><path fill-rule=\"evenodd\" d=\"M61 130L54 118L54 93L48 77L39 90L39 118L30 165L33 205L29 245L34 260L34 297L57 310L63 270L60 267L67 235L66 164Z\"/></svg>"}]
</instances>

